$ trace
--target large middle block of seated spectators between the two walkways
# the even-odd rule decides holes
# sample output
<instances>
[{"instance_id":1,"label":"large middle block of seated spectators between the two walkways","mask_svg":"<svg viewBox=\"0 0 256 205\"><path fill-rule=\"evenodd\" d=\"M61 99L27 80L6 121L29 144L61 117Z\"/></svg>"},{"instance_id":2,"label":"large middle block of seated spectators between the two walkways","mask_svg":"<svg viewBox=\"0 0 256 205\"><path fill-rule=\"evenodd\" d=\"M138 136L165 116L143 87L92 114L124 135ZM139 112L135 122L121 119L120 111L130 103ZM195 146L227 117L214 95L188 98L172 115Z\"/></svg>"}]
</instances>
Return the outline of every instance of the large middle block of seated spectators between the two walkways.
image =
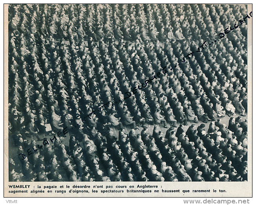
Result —
<instances>
[{"instance_id":1,"label":"large middle block of seated spectators between the two walkways","mask_svg":"<svg viewBox=\"0 0 256 205\"><path fill-rule=\"evenodd\" d=\"M62 9L60 19L66 20L63 11L67 13L67 8ZM57 14L61 10L60 7L55 7L55 9ZM155 5L154 9L157 9ZM125 7L123 7L123 10L125 10ZM35 18L34 22L38 22L36 20L38 18L37 12L31 13L33 13L32 18ZM19 15L15 12L13 14L14 16ZM26 20L28 15L30 14L25 12L20 18L21 24L25 23L26 25L27 23L28 25ZM81 18L83 18L82 15ZM73 19L74 16L72 16ZM54 22L54 18L51 21ZM13 85L9 85L9 96L11 96L9 99L10 134L16 130L22 130L24 131L22 134L27 136L33 134L40 139L34 122L36 122L38 128L42 128L41 131L43 132L46 118L49 119L47 122L50 122L56 133L63 129L58 125L60 120L67 127L71 127L71 125L79 126L86 133L87 125L90 129L95 126L97 129L101 129L102 125L112 119L114 121L111 122L115 126L116 123L120 124L117 120L119 117L124 119L122 119L124 124L133 124L133 128L136 128L134 121L136 124L139 124L138 122L144 124L144 120L152 124L163 122L165 126L167 120L175 126L176 120L185 124L187 120L197 122L197 119L207 122L207 115L210 119L216 120L217 117L225 115L223 107L229 115L234 114L234 111L244 115L245 108L247 108L247 68L244 65L246 55L243 55L240 51L238 52L238 50L244 50L243 47L233 49L233 45L237 48L236 43L227 41L227 38L225 38L224 44L222 42L220 44L216 43L218 47L212 46L209 48L218 57L216 62L229 59L228 63L223 62L223 65L225 65L223 68L218 68L214 63L214 56L207 56L207 54L205 55L209 57L209 59L206 59L207 61L204 60L204 56L196 57L196 59L191 58L191 70L187 67L188 65L175 68L175 62L178 62L177 57L180 58L180 54L187 53L187 45L191 44L191 41L184 41L184 43L179 40L175 41L175 39L172 39L171 42L166 41L164 52L162 52L159 46L160 43L155 38L145 40L142 36L142 38L136 40L133 46L125 38L126 42L123 45L124 41L121 40L117 44L113 36L101 40L96 34L97 38L88 36L87 46L83 38L78 38L80 41L77 41L73 31L75 27L71 23L67 25L67 35L65 36L63 33L63 37L68 39L69 43L59 40L56 32L52 34L47 34L43 30L34 32L35 24L33 22L28 27L29 30L23 29L24 31L22 27L10 29L9 81L11 84L13 83ZM62 36L61 33L60 36ZM97 39L99 40L98 43L96 42ZM145 40L145 43L143 40ZM154 47L151 45L152 40L154 40ZM193 45L192 43L191 46ZM224 45L228 48L226 52L216 53L214 51L214 48L217 48L217 51L224 50ZM168 47L174 48L174 52L170 53ZM235 58L232 59L229 52ZM238 61L238 64L236 61ZM208 63L214 68L213 70L207 66ZM152 78L156 74L156 70L164 66L168 70L167 79L162 77L160 83L155 81L155 83L145 88L145 92L138 90L136 95L129 97L126 101L124 100L125 96L121 91L128 90L133 93L133 87L138 86L138 82ZM230 71L229 67L232 67ZM194 75L191 75L191 73L194 73ZM217 79L212 76L216 76ZM228 79L225 79L225 76ZM191 77L194 77L195 80ZM198 77L200 81L196 80ZM137 84L135 81L137 81ZM221 88L218 81L222 83ZM180 88L179 82L181 84ZM230 101L230 105L227 106L228 99L225 97L225 93L220 93L223 87L224 90L226 88L227 93L233 93L232 85L235 88L236 95L235 97L228 95L228 98L234 104L235 110ZM197 88L200 88L200 90ZM192 95L193 92L203 96L201 97L202 100L198 95ZM182 95L184 96L184 93L188 96L188 100L185 97L185 100L183 99ZM111 101L111 99L114 99L114 101L111 106L107 106L105 111L103 108L98 108L99 105ZM119 101L122 102L115 104ZM25 108L22 106L23 104ZM217 104L218 107L216 107ZM92 117L87 117L94 109L99 109L98 112L96 111L96 115L93 114ZM134 121L129 119L130 113L134 117ZM154 114L151 115L151 113ZM23 120L24 122L22 122Z\"/></svg>"}]
</instances>

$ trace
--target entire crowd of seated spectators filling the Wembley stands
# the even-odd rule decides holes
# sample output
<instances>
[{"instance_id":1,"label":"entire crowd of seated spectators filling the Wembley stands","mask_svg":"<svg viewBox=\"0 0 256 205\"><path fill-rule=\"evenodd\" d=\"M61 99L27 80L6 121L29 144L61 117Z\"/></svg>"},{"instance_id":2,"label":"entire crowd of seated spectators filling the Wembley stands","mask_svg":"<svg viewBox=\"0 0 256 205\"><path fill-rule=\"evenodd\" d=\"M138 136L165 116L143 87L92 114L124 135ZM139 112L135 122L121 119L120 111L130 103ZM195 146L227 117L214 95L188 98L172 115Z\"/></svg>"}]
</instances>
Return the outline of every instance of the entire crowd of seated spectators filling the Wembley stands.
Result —
<instances>
[{"instance_id":1,"label":"entire crowd of seated spectators filling the Wembley stands","mask_svg":"<svg viewBox=\"0 0 256 205\"><path fill-rule=\"evenodd\" d=\"M9 4L9 181L246 181L247 13Z\"/></svg>"}]
</instances>

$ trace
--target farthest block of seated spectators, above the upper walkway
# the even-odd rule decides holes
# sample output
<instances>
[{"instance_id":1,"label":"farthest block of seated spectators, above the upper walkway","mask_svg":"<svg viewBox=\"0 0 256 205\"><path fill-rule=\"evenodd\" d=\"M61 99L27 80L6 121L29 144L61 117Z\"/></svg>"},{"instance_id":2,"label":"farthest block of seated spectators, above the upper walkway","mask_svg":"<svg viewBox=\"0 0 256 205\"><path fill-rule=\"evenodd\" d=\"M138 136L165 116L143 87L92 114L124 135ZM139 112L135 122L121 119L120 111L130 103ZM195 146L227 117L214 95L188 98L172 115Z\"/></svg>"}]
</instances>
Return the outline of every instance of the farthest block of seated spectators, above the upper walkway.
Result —
<instances>
[{"instance_id":1,"label":"farthest block of seated spectators, above the upper walkway","mask_svg":"<svg viewBox=\"0 0 256 205\"><path fill-rule=\"evenodd\" d=\"M72 24L78 31L77 39L93 36L96 40L113 35L116 39L132 40L138 34L145 40L190 39L193 32L208 38L214 37L214 29L223 32L232 22L247 15L245 5L204 4L11 5L9 11L12 14L10 30L17 29L20 19L25 18L20 23L23 31L31 23L31 32L39 30L45 35L61 34L67 38L68 26ZM246 25L239 29L246 34ZM244 43L243 36L239 37Z\"/></svg>"}]
</instances>

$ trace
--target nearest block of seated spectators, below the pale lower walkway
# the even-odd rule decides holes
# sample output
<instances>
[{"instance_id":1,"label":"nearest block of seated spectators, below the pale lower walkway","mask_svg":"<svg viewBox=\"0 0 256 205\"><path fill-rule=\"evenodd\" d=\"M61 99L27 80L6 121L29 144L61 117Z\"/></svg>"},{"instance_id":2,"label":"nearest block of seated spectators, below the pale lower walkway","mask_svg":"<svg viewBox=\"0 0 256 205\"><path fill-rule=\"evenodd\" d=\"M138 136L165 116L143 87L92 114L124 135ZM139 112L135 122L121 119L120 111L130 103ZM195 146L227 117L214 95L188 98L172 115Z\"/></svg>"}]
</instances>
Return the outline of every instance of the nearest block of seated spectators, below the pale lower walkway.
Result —
<instances>
[{"instance_id":1,"label":"nearest block of seated spectators, below the pale lower walkway","mask_svg":"<svg viewBox=\"0 0 256 205\"><path fill-rule=\"evenodd\" d=\"M146 126L137 135L120 128L118 137L109 129L104 135L71 136L67 145L58 137L52 143L45 138L42 146L18 134L12 136L17 155L10 160L10 174L21 181L247 180L246 120L234 118L228 127L218 120L207 131L205 124L183 128L171 127L165 136L157 125L152 135ZM34 153L24 157L31 147Z\"/></svg>"}]
</instances>

